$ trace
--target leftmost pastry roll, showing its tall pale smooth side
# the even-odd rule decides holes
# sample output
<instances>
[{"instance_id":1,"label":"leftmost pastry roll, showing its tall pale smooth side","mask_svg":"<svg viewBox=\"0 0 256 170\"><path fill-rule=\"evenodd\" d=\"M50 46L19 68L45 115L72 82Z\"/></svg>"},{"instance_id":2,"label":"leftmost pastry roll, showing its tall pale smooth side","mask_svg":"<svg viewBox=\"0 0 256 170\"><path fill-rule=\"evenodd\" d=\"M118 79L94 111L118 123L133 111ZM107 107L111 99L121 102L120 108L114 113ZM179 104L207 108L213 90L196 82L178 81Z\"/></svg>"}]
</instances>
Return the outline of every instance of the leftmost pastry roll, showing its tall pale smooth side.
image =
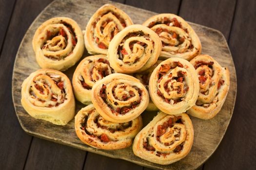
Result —
<instances>
[{"instance_id":1,"label":"leftmost pastry roll, showing its tall pale smooth side","mask_svg":"<svg viewBox=\"0 0 256 170\"><path fill-rule=\"evenodd\" d=\"M71 83L54 69L39 69L24 80L21 104L30 116L57 125L65 125L75 116Z\"/></svg>"}]
</instances>

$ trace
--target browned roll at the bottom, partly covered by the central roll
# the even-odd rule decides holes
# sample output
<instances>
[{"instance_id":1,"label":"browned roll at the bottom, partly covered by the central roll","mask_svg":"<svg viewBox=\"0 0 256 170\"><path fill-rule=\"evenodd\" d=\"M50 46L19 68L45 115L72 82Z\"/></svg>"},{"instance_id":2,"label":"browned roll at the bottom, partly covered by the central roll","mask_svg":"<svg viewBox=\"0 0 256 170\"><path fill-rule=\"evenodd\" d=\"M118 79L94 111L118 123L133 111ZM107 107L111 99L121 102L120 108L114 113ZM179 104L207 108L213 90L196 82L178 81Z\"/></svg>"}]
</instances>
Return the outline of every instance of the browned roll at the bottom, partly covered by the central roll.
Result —
<instances>
[{"instance_id":1,"label":"browned roll at the bottom, partly covered by the central roll","mask_svg":"<svg viewBox=\"0 0 256 170\"><path fill-rule=\"evenodd\" d=\"M93 104L82 108L75 117L79 139L94 148L114 150L130 146L142 127L142 119L114 123L100 116Z\"/></svg>"}]
</instances>

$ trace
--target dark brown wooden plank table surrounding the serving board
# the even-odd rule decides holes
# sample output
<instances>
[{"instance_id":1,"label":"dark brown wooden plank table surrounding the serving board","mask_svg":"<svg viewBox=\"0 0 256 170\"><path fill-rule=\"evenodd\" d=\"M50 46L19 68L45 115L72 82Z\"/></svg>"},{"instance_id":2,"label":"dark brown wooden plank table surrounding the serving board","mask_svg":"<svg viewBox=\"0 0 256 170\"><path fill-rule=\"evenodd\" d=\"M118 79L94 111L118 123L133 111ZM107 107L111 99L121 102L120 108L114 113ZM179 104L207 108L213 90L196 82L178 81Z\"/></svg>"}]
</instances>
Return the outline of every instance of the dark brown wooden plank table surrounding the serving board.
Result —
<instances>
[{"instance_id":1,"label":"dark brown wooden plank table surrounding the serving board","mask_svg":"<svg viewBox=\"0 0 256 170\"><path fill-rule=\"evenodd\" d=\"M0 0L0 170L143 170L136 164L27 135L11 96L16 53L26 30L52 0ZM236 66L236 106L216 152L203 170L256 169L256 0L116 0L224 34ZM160 1L160 2L159 2Z\"/></svg>"}]
</instances>

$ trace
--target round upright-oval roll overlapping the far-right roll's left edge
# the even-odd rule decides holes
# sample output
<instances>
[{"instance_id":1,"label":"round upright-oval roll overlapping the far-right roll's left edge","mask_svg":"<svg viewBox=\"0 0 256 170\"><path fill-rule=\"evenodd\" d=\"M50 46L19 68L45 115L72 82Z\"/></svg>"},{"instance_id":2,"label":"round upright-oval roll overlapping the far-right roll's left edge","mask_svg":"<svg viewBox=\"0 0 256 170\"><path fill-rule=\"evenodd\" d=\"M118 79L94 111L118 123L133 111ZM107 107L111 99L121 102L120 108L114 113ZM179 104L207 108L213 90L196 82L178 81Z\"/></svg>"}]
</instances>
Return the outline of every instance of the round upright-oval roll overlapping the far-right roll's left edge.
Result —
<instances>
[{"instance_id":1,"label":"round upright-oval roll overlapping the far-right roll's left edge","mask_svg":"<svg viewBox=\"0 0 256 170\"><path fill-rule=\"evenodd\" d=\"M169 58L154 69L149 80L151 100L164 113L183 113L195 105L199 93L195 68L182 58Z\"/></svg>"}]
</instances>

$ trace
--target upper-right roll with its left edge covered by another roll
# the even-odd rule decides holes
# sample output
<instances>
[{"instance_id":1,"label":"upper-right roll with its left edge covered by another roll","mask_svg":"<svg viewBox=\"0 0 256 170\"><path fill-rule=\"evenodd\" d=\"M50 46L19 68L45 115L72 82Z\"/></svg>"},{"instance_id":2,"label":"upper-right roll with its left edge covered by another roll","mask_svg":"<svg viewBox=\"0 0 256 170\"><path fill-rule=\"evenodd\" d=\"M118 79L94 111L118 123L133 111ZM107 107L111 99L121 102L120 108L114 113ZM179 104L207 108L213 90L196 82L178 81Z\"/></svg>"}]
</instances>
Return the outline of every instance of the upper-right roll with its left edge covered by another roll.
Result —
<instances>
[{"instance_id":1,"label":"upper-right roll with its left edge covered by another roll","mask_svg":"<svg viewBox=\"0 0 256 170\"><path fill-rule=\"evenodd\" d=\"M142 25L155 31L162 41L162 57L191 60L201 53L201 42L193 28L174 14L159 14Z\"/></svg>"}]
</instances>

